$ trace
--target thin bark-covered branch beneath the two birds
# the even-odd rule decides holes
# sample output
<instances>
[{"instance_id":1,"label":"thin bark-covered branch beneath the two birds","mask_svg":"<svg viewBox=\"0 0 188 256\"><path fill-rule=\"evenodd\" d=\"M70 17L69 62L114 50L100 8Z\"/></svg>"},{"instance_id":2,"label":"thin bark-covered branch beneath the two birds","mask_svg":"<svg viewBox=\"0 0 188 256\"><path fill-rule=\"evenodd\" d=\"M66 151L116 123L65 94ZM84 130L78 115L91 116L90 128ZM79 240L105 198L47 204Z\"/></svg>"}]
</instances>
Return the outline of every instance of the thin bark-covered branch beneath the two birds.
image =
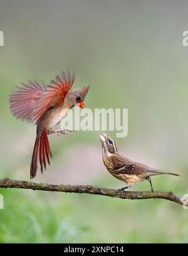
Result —
<instances>
[{"instance_id":1,"label":"thin bark-covered branch beneath the two birds","mask_svg":"<svg viewBox=\"0 0 188 256\"><path fill-rule=\"evenodd\" d=\"M91 195L111 196L114 198L140 200L150 198L162 198L174 201L179 205L188 206L188 200L175 195L172 191L120 191L110 188L102 188L91 185L56 185L46 183L34 183L31 181L16 181L14 179L0 179L0 188L23 188L43 191L59 191L65 193L85 193Z\"/></svg>"}]
</instances>

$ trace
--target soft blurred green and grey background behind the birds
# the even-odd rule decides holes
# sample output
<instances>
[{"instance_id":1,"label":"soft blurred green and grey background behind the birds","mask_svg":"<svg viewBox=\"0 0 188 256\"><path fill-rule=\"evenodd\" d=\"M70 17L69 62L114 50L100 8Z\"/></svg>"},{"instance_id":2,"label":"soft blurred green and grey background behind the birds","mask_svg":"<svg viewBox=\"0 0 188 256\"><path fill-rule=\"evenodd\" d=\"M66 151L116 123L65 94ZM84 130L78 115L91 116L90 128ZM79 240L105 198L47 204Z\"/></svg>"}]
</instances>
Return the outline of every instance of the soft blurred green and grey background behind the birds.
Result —
<instances>
[{"instance_id":1,"label":"soft blurred green and grey background behind the birds","mask_svg":"<svg viewBox=\"0 0 188 256\"><path fill-rule=\"evenodd\" d=\"M182 177L158 176L155 189L188 193L187 1L1 0L0 178L29 180L36 127L9 112L9 93L28 79L48 83L76 72L91 84L87 107L128 108L118 151ZM120 188L102 163L99 132L50 136L53 160L34 181ZM115 138L115 132L108 132ZM132 189L148 190L149 183ZM188 210L165 200L118 200L1 189L0 242L188 242Z\"/></svg>"}]
</instances>

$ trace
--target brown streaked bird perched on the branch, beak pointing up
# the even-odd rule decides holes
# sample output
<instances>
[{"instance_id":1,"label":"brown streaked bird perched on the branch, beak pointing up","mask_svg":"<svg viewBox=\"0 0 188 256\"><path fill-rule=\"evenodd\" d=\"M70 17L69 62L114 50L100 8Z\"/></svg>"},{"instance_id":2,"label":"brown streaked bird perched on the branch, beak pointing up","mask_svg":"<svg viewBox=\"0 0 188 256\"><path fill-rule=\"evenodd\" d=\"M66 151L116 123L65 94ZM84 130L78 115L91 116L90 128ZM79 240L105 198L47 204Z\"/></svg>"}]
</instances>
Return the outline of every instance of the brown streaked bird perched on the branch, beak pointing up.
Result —
<instances>
[{"instance_id":1,"label":"brown streaked bird perched on the branch, beak pointing up","mask_svg":"<svg viewBox=\"0 0 188 256\"><path fill-rule=\"evenodd\" d=\"M144 181L146 179L150 183L151 190L154 191L150 176L160 174L180 176L177 173L166 173L154 168L150 168L145 164L140 164L124 156L121 156L117 152L115 142L113 139L107 136L107 134L100 134L100 140L102 142L103 163L105 164L107 170L115 178L127 183L127 186L121 188L120 190L130 188L132 184Z\"/></svg>"}]
</instances>

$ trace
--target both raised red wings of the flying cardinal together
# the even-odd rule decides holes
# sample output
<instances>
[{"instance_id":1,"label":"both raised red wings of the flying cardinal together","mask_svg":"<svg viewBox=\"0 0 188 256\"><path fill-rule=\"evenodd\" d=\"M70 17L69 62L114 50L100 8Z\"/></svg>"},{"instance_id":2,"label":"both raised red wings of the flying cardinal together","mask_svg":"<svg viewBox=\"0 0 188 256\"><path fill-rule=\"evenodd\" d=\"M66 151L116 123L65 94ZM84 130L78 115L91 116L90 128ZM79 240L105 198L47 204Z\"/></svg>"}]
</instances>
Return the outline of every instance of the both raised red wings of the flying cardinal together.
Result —
<instances>
[{"instance_id":1,"label":"both raised red wings of the flying cardinal together","mask_svg":"<svg viewBox=\"0 0 188 256\"><path fill-rule=\"evenodd\" d=\"M63 103L74 80L75 73L68 70L47 86L30 80L29 85L21 83L23 87L17 87L10 95L10 110L19 119L38 123L50 107Z\"/></svg>"}]
</instances>

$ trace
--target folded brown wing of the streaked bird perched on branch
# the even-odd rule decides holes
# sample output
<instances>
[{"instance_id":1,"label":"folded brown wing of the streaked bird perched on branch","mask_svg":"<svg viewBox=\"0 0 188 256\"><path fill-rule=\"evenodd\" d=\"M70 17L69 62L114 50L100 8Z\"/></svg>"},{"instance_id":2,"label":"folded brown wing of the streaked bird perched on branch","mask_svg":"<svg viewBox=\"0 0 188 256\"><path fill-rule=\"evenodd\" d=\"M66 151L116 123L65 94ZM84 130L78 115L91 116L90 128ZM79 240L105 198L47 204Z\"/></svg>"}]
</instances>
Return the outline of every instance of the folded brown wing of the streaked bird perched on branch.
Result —
<instances>
[{"instance_id":1,"label":"folded brown wing of the streaked bird perched on branch","mask_svg":"<svg viewBox=\"0 0 188 256\"><path fill-rule=\"evenodd\" d=\"M111 156L113 169L119 174L143 174L151 172L149 166L140 164L120 155Z\"/></svg>"}]
</instances>

